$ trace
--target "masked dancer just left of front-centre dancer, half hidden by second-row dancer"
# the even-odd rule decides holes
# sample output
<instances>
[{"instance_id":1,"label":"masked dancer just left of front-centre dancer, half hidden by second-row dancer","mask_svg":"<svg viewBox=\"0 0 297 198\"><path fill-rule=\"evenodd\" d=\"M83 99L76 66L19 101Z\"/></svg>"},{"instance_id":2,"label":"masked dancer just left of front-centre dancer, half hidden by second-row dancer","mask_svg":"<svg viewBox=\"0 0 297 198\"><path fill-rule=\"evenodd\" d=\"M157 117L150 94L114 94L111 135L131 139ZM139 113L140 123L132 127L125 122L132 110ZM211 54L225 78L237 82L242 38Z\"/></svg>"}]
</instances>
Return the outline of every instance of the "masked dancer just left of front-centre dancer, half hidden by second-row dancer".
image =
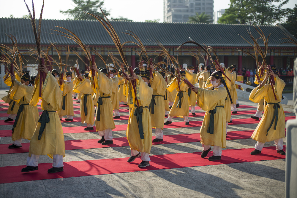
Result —
<instances>
[{"instance_id":1,"label":"masked dancer just left of front-centre dancer, half hidden by second-row dancer","mask_svg":"<svg viewBox=\"0 0 297 198\"><path fill-rule=\"evenodd\" d=\"M113 111L114 111L114 117L115 119L120 118L120 99L119 99L119 90L118 90L118 85L119 85L119 79L116 76L116 70L111 70L110 71L110 79L113 81L113 90L112 90L112 95L111 95L111 102L113 104Z\"/></svg>"}]
</instances>

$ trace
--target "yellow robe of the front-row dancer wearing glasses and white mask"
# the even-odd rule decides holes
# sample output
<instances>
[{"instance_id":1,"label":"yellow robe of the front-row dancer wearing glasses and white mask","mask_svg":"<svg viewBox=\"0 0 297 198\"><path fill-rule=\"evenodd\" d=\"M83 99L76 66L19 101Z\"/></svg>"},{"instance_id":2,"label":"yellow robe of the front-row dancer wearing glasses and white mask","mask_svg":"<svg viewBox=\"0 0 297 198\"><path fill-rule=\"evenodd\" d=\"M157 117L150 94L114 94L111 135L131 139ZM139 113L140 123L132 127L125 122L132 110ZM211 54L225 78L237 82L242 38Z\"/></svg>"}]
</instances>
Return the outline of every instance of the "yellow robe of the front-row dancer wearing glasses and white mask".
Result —
<instances>
[{"instance_id":1,"label":"yellow robe of the front-row dancer wearing glasses and white mask","mask_svg":"<svg viewBox=\"0 0 297 198\"><path fill-rule=\"evenodd\" d=\"M224 106L226 95L225 87L198 90L197 104L206 111L200 128L201 143L204 145L226 147L225 108L217 107L217 112L214 114L214 134L207 132L210 120L208 111L215 109L216 106Z\"/></svg>"}]
</instances>

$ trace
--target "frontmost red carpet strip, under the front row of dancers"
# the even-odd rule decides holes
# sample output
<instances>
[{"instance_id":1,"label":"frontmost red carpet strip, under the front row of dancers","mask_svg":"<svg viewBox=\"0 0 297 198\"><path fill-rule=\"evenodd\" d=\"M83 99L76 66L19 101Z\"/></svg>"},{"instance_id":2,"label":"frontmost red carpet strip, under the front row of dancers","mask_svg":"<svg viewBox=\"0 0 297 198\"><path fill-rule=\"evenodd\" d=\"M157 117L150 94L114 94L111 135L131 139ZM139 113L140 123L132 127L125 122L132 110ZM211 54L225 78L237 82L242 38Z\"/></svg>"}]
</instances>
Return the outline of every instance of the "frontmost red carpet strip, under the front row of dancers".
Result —
<instances>
[{"instance_id":1,"label":"frontmost red carpet strip, under the front row of dancers","mask_svg":"<svg viewBox=\"0 0 297 198\"><path fill-rule=\"evenodd\" d=\"M284 155L276 152L274 146L264 147L262 153L258 155L249 154L253 150L254 148L223 150L222 160L218 161L209 161L207 157L201 158L201 152L155 155L150 156L150 166L146 168L137 167L141 162L140 158L137 158L132 163L128 163L128 157L64 162L64 171L59 173L47 172L52 167L52 163L39 164L39 170L28 173L21 172L21 169L26 167L26 165L6 166L0 167L0 172L2 173L0 183L285 159ZM208 156L211 155L212 151L210 151ZM24 161L24 164L26 164L26 161Z\"/></svg>"}]
</instances>

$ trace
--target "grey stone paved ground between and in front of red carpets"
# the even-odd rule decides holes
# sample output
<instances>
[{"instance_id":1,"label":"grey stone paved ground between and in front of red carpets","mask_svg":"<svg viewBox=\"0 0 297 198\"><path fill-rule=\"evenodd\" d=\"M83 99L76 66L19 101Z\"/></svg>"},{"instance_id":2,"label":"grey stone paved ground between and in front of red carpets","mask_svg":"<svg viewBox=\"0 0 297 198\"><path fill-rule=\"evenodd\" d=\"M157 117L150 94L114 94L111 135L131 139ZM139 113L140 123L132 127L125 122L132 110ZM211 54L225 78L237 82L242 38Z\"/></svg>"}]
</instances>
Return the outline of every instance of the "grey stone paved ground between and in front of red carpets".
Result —
<instances>
[{"instance_id":1,"label":"grey stone paved ground between and in front of red carpets","mask_svg":"<svg viewBox=\"0 0 297 198\"><path fill-rule=\"evenodd\" d=\"M1 98L4 94L5 92L1 90ZM239 103L256 107L252 102L239 101ZM292 112L290 108L284 108L284 110ZM0 111L0 113L6 112ZM128 115L128 113L121 113L121 115ZM249 118L249 116L251 115L232 117L239 119ZM286 113L286 116L295 116L295 114ZM0 117L0 120L4 119L6 118ZM198 120L203 120L203 117L190 118L190 121ZM182 122L183 119L173 119L173 122L177 121ZM115 121L115 124L127 124L127 120ZM73 126L85 126L85 124L62 123L62 127ZM11 125L0 127L1 130L11 129ZM257 124L232 125L228 127L228 131L254 130L256 127ZM199 133L199 130L200 127L164 129L164 135ZM125 136L126 131L113 133L114 138ZM64 134L64 138L82 140L96 139L99 136L95 132L68 133ZM23 140L23 142L29 142L29 140ZM12 143L11 137L0 137L0 144L8 143ZM255 141L252 139L227 140L225 149L253 148L254 145ZM274 142L268 142L265 146L274 146ZM173 143L153 145L151 155L201 151L200 142ZM224 156L224 151L222 155ZM28 153L2 154L0 166L25 165L27 156ZM127 146L66 150L64 162L129 156L130 150ZM52 159L40 156L39 163L52 163ZM284 197L284 194L285 159L0 184L0 197Z\"/></svg>"}]
</instances>

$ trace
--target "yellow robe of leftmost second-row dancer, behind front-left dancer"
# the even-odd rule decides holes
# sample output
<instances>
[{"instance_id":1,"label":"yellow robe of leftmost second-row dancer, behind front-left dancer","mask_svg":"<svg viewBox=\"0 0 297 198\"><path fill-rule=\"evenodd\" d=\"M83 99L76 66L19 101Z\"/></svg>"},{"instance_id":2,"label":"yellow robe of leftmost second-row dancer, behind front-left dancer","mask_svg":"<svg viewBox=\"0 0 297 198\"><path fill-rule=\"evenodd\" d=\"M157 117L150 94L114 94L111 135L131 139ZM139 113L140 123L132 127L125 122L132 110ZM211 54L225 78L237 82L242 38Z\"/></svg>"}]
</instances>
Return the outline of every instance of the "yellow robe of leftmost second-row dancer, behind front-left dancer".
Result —
<instances>
[{"instance_id":1,"label":"yellow robe of leftmost second-row dancer, behind front-left dancer","mask_svg":"<svg viewBox=\"0 0 297 198\"><path fill-rule=\"evenodd\" d=\"M33 136L39 117L39 114L35 111L35 108L33 106L29 106L33 90L34 88L32 86L23 85L17 80L13 81L13 88L9 94L10 98L13 100L18 100L18 105L23 105L23 111L20 113L18 122L16 123L12 133L13 141L20 138L30 140Z\"/></svg>"}]
</instances>

